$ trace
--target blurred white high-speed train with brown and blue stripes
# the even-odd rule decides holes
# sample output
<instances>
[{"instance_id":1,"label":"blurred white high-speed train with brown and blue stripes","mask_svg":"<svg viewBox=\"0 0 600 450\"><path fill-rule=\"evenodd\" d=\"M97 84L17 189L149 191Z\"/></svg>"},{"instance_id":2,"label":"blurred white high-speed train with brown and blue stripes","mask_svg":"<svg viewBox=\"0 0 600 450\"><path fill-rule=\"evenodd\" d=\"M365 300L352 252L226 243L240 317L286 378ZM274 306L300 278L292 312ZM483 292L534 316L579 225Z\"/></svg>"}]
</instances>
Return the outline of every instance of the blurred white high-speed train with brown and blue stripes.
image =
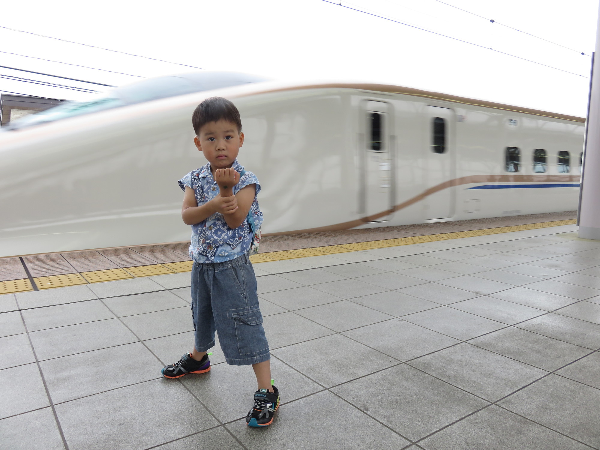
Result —
<instances>
[{"instance_id":1,"label":"blurred white high-speed train with brown and blue stripes","mask_svg":"<svg viewBox=\"0 0 600 450\"><path fill-rule=\"evenodd\" d=\"M191 113L212 96L241 112L266 235L577 208L583 118L401 86L175 78L0 133L0 256L189 239L176 181L205 164Z\"/></svg>"}]
</instances>

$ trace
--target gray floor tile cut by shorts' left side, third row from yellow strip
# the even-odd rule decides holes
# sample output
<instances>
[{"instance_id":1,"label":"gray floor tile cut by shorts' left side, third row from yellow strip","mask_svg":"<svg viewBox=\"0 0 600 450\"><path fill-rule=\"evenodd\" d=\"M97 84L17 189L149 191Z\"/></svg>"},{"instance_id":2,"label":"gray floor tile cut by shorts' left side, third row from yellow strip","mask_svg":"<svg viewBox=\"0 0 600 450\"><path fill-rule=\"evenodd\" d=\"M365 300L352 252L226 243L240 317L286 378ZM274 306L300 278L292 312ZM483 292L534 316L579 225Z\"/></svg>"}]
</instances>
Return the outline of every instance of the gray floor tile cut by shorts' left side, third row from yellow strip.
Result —
<instances>
[{"instance_id":1,"label":"gray floor tile cut by shorts' left side, third row from yellow strip","mask_svg":"<svg viewBox=\"0 0 600 450\"><path fill-rule=\"evenodd\" d=\"M189 305L174 310L127 316L122 320L143 341L194 329Z\"/></svg>"}]
</instances>

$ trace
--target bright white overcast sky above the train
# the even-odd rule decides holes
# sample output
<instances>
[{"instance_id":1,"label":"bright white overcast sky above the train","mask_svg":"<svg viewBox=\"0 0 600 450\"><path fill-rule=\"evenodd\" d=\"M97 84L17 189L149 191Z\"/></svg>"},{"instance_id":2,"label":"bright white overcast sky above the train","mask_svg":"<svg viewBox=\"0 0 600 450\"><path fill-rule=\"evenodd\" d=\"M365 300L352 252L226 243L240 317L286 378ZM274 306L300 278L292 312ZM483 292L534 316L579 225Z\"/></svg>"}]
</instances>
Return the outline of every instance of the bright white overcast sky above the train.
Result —
<instances>
[{"instance_id":1,"label":"bright white overcast sky above the train","mask_svg":"<svg viewBox=\"0 0 600 450\"><path fill-rule=\"evenodd\" d=\"M207 70L274 79L384 82L585 115L591 61L587 55L594 50L597 0L444 1L485 19L438 0L352 0L341 5L486 48L322 0L4 2L0 26ZM0 42L2 52L143 77L196 70L2 28ZM110 85L140 80L7 53L0 53L0 61L4 66ZM5 68L0 74L102 89ZM7 79L0 79L0 89L71 100L89 95Z\"/></svg>"}]
</instances>

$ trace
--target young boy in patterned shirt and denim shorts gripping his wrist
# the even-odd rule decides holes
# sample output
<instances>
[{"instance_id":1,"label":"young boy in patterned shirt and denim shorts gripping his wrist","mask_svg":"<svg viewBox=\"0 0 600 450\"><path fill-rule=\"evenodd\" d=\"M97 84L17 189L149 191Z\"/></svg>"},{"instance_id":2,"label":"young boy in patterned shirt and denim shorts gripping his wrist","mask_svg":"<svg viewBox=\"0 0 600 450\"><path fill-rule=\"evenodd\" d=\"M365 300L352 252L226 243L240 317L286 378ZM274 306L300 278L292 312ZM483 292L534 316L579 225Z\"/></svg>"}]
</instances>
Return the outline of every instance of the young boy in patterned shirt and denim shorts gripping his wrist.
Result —
<instances>
[{"instance_id":1,"label":"young boy in patterned shirt and denim shorts gripping his wrist","mask_svg":"<svg viewBox=\"0 0 600 450\"><path fill-rule=\"evenodd\" d=\"M185 191L181 216L191 225L191 310L194 350L163 368L166 378L206 373L211 363L206 353L215 345L215 331L227 364L252 365L258 390L246 422L266 427L279 406L279 392L271 385L269 344L256 295L256 277L248 257L262 212L256 196L260 184L245 172L236 157L244 133L235 105L221 97L207 98L192 115L194 143L208 164L179 180Z\"/></svg>"}]
</instances>

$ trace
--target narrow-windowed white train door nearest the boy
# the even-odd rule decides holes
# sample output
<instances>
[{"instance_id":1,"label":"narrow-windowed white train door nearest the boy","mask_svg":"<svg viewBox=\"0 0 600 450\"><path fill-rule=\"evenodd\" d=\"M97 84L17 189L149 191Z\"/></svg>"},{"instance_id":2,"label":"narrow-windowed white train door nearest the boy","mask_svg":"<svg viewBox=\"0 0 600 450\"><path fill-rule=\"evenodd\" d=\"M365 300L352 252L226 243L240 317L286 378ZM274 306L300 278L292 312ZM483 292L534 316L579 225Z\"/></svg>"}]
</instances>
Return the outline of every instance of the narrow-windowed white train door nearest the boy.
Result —
<instances>
[{"instance_id":1,"label":"narrow-windowed white train door nearest the boy","mask_svg":"<svg viewBox=\"0 0 600 450\"><path fill-rule=\"evenodd\" d=\"M371 222L389 220L394 206L392 108L385 101L367 100L362 110L366 125L362 211Z\"/></svg>"}]
</instances>

